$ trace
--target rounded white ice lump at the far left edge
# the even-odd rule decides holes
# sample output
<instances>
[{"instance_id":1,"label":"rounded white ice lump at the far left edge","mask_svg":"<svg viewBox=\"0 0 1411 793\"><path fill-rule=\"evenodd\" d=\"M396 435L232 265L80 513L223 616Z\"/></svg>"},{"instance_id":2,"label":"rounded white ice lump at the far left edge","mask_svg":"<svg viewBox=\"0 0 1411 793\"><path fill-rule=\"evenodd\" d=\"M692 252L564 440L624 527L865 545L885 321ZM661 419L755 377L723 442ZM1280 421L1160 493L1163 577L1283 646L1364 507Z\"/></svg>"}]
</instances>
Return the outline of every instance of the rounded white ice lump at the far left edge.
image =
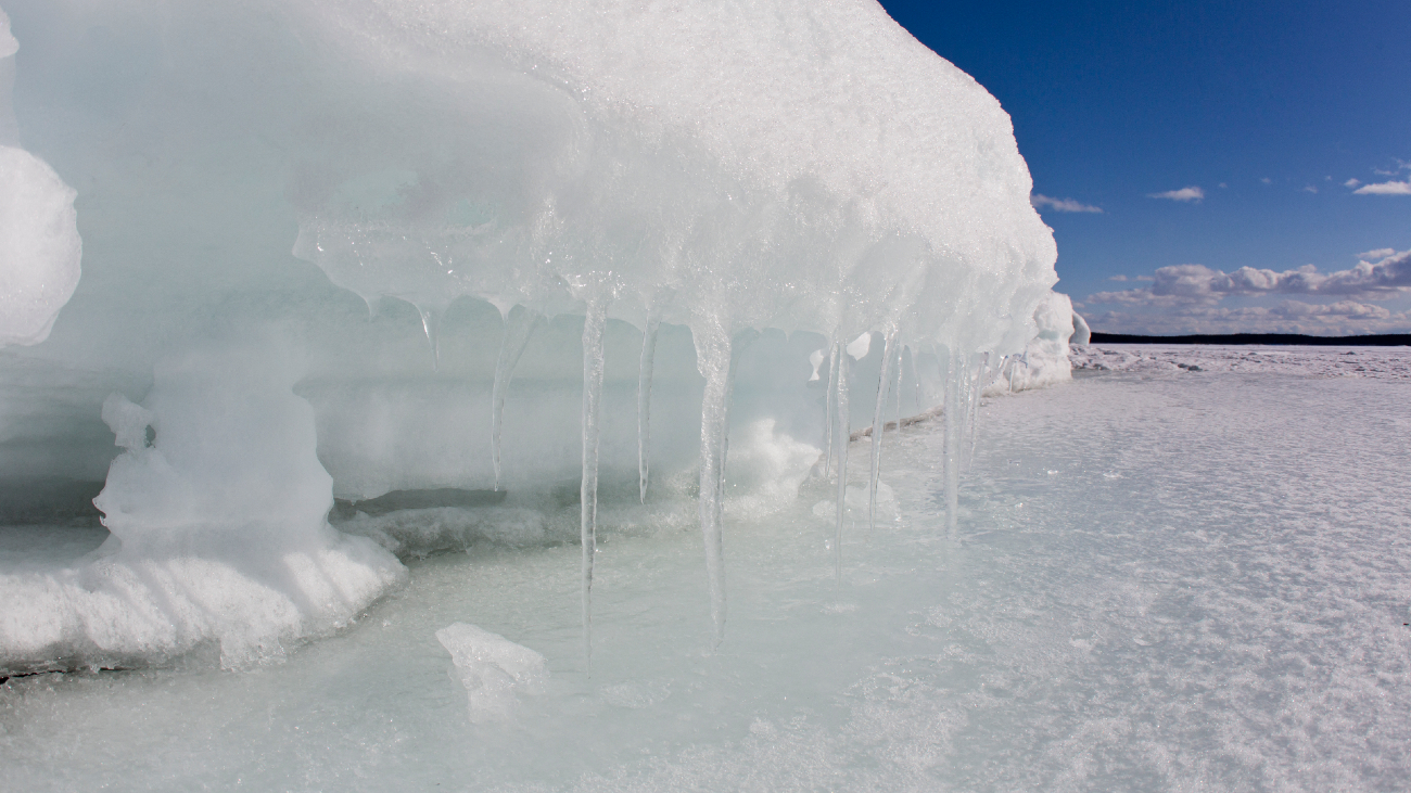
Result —
<instances>
[{"instance_id":1,"label":"rounded white ice lump at the far left edge","mask_svg":"<svg viewBox=\"0 0 1411 793\"><path fill-rule=\"evenodd\" d=\"M3 51L8 31L0 34ZM73 293L82 255L76 195L38 157L0 145L0 347L48 339Z\"/></svg>"}]
</instances>

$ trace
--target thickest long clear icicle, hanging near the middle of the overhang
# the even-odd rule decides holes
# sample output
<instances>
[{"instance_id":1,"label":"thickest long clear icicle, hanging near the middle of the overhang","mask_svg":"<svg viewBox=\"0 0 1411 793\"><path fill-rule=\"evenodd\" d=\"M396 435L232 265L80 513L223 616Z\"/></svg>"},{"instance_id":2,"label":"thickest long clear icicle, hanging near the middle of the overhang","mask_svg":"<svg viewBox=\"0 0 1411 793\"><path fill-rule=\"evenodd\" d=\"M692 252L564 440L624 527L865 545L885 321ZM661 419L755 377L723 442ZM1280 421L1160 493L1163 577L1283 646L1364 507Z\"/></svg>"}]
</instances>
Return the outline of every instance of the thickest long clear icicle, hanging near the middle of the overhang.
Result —
<instances>
[{"instance_id":1,"label":"thickest long clear icicle, hanging near the middle of the overhang","mask_svg":"<svg viewBox=\"0 0 1411 793\"><path fill-rule=\"evenodd\" d=\"M721 477L725 473L725 442L729 432L731 339L720 326L696 333L696 360L706 375L701 396L701 480L700 522L706 545L706 579L714 646L725 639L725 550L721 532L724 507Z\"/></svg>"}]
</instances>

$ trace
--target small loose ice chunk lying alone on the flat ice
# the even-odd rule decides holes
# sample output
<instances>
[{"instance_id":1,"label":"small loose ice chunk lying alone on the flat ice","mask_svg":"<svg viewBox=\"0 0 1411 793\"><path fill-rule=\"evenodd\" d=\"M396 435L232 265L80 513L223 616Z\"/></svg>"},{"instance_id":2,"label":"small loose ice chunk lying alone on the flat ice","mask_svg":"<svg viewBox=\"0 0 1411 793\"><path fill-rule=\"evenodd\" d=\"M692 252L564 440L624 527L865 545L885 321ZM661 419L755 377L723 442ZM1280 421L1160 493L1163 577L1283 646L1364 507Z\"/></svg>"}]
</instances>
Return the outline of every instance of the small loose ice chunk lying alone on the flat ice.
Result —
<instances>
[{"instance_id":1,"label":"small loose ice chunk lying alone on the flat ice","mask_svg":"<svg viewBox=\"0 0 1411 793\"><path fill-rule=\"evenodd\" d=\"M436 631L436 641L456 665L453 679L466 687L476 724L507 721L516 693L542 693L549 680L542 655L484 628L456 622Z\"/></svg>"}]
</instances>

